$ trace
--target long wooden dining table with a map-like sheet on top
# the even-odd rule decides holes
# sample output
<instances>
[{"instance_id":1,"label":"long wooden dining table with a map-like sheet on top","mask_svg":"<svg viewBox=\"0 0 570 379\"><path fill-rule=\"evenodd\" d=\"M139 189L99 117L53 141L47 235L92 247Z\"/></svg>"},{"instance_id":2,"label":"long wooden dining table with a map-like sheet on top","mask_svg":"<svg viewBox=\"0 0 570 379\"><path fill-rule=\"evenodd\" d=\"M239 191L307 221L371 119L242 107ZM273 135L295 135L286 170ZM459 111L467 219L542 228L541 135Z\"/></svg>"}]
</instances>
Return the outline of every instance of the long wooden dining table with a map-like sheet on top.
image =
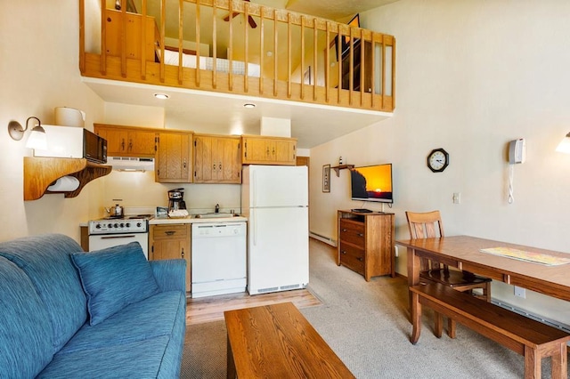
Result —
<instances>
[{"instance_id":1,"label":"long wooden dining table with a map-like sheet on top","mask_svg":"<svg viewBox=\"0 0 570 379\"><path fill-rule=\"evenodd\" d=\"M428 258L458 270L468 270L509 285L570 301L570 263L545 265L483 253L481 250L503 247L541 254L553 260L568 260L570 254L470 236L403 239L395 244L407 247L410 286L419 284L420 259Z\"/></svg>"}]
</instances>

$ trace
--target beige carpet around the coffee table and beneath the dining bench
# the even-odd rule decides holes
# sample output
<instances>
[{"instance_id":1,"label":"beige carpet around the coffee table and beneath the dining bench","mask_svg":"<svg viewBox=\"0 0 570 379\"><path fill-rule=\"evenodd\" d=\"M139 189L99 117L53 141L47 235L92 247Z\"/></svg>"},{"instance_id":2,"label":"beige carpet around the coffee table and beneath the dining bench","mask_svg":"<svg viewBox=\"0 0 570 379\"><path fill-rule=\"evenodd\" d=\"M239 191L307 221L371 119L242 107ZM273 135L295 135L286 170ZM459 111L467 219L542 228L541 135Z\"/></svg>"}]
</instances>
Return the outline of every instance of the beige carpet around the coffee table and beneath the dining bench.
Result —
<instances>
[{"instance_id":1,"label":"beige carpet around the coffee table and beneath the dining bench","mask_svg":"<svg viewBox=\"0 0 570 379\"><path fill-rule=\"evenodd\" d=\"M403 278L362 276L338 267L336 250L312 240L310 288L321 306L301 310L358 378L522 378L524 359L458 325L457 338L432 333L424 317L419 342L408 338L407 285ZM224 321L187 327L182 378L224 378ZM542 377L550 377L543 359Z\"/></svg>"}]
</instances>

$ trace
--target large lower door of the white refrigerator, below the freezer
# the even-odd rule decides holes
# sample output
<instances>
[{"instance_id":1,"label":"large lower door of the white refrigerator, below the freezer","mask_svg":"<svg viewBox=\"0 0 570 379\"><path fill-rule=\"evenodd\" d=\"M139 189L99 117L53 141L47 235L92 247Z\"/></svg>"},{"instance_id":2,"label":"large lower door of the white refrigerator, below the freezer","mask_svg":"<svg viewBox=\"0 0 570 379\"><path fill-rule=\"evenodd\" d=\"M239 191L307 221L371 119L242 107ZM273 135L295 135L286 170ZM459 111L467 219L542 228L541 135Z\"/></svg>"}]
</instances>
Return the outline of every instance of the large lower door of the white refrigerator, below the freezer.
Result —
<instances>
[{"instance_id":1,"label":"large lower door of the white refrigerator, below the freezer","mask_svg":"<svg viewBox=\"0 0 570 379\"><path fill-rule=\"evenodd\" d=\"M252 208L248 292L304 288L309 281L308 208Z\"/></svg>"}]
</instances>

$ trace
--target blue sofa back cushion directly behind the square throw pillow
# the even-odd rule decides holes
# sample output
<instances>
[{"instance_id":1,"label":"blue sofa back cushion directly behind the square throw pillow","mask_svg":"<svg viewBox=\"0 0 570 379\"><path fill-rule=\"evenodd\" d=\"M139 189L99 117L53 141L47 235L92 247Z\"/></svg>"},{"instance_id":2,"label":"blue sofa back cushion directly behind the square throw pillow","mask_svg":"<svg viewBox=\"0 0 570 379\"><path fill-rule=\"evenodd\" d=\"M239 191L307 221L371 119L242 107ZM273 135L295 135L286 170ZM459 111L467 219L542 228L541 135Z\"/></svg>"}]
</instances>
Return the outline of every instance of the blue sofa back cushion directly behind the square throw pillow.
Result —
<instances>
[{"instance_id":1,"label":"blue sofa back cushion directly behind the square throw pillow","mask_svg":"<svg viewBox=\"0 0 570 379\"><path fill-rule=\"evenodd\" d=\"M69 257L81 251L75 240L46 234L0 243L0 256L23 270L44 302L42 315L52 326L52 353L59 351L87 319L86 298Z\"/></svg>"}]
</instances>

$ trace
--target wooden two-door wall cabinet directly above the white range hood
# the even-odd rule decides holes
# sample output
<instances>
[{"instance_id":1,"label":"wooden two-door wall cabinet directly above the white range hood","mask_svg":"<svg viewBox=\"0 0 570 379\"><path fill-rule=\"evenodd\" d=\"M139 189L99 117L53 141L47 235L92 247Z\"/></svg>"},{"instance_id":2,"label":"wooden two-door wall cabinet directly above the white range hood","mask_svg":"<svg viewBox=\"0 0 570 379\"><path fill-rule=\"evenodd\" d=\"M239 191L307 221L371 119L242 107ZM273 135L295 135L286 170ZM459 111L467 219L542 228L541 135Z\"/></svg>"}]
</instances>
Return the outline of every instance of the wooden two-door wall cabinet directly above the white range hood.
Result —
<instances>
[{"instance_id":1,"label":"wooden two-door wall cabinet directly above the white range hood","mask_svg":"<svg viewBox=\"0 0 570 379\"><path fill-rule=\"evenodd\" d=\"M158 130L94 124L94 133L107 140L108 157L154 157Z\"/></svg>"}]
</instances>

